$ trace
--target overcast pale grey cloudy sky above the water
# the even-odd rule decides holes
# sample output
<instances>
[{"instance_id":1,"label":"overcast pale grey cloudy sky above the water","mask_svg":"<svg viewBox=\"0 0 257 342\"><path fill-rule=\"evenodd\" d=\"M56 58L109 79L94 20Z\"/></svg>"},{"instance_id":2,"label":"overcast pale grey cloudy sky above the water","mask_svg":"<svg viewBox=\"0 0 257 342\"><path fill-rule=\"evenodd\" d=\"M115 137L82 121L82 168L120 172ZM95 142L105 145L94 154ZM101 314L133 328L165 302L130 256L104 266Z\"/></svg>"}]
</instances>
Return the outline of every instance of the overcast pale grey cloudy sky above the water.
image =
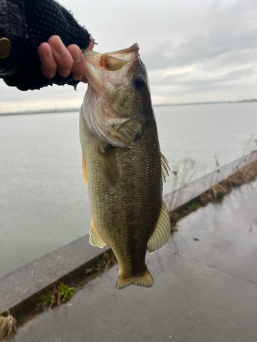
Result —
<instances>
[{"instance_id":1,"label":"overcast pale grey cloudy sky above the water","mask_svg":"<svg viewBox=\"0 0 257 342\"><path fill-rule=\"evenodd\" d=\"M256 0L60 0L106 53L137 42L156 104L257 98ZM21 92L0 112L79 107L86 85Z\"/></svg>"}]
</instances>

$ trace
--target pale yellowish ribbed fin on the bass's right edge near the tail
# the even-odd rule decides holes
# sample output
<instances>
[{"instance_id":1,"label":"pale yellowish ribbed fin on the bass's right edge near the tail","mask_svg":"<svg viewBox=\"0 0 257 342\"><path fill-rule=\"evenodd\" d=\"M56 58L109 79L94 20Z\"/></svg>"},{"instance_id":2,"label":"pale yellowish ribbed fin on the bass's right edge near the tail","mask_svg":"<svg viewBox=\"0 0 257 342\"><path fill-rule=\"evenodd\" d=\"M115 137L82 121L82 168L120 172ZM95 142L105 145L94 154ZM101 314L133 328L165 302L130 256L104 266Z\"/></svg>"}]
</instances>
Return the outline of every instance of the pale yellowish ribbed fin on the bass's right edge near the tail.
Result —
<instances>
[{"instance_id":1,"label":"pale yellowish ribbed fin on the bass's right edge near the tail","mask_svg":"<svg viewBox=\"0 0 257 342\"><path fill-rule=\"evenodd\" d=\"M154 233L148 240L147 247L150 253L159 250L167 244L169 235L171 234L171 222L169 220L169 212L162 200L162 208L160 209L160 215Z\"/></svg>"}]
</instances>

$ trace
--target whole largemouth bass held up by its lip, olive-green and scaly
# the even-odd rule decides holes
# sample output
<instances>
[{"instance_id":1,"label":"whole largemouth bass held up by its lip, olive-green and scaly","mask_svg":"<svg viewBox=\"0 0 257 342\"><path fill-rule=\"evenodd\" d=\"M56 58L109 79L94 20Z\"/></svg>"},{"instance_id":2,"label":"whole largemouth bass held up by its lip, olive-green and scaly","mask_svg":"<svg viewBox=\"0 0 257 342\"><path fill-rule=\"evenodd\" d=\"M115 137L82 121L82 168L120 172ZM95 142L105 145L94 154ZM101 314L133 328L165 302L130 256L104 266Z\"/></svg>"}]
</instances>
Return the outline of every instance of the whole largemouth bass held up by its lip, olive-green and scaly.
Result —
<instances>
[{"instance_id":1,"label":"whole largemouth bass held up by its lip, olive-green and scaly","mask_svg":"<svg viewBox=\"0 0 257 342\"><path fill-rule=\"evenodd\" d=\"M160 153L147 70L138 44L112 53L84 51L88 90L79 115L88 186L90 244L110 246L119 262L117 288L151 287L145 254L169 239L162 200L168 175Z\"/></svg>"}]
</instances>

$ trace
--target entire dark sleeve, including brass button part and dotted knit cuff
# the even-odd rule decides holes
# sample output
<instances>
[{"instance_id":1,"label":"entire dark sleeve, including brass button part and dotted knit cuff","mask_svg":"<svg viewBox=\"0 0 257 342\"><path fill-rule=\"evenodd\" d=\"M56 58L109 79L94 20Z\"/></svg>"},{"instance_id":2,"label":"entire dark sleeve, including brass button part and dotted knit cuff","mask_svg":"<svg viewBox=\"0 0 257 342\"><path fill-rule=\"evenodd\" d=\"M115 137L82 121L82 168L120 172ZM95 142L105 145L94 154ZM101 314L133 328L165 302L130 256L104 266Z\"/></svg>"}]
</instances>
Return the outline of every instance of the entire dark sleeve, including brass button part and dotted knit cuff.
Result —
<instances>
[{"instance_id":1,"label":"entire dark sleeve, including brass button part and dotted knit cuff","mask_svg":"<svg viewBox=\"0 0 257 342\"><path fill-rule=\"evenodd\" d=\"M88 31L54 0L0 0L0 77L8 86L34 90L78 83L71 75L49 80L42 74L38 47L53 34L66 47L77 44L86 49L90 43Z\"/></svg>"}]
</instances>

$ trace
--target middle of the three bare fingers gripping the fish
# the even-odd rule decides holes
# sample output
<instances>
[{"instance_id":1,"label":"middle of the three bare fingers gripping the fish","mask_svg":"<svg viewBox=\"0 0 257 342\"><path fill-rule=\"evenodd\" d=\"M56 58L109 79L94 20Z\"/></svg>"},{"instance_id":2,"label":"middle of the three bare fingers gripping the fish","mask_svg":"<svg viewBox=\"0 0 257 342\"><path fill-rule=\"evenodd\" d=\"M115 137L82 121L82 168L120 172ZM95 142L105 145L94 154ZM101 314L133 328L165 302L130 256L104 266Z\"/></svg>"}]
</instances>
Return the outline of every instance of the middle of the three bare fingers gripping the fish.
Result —
<instances>
[{"instance_id":1,"label":"middle of the three bare fingers gripping the fish","mask_svg":"<svg viewBox=\"0 0 257 342\"><path fill-rule=\"evenodd\" d=\"M68 77L73 66L71 53L66 49L62 40L58 36L51 36L48 40L53 57L57 63L57 72L62 77Z\"/></svg>"}]
</instances>

